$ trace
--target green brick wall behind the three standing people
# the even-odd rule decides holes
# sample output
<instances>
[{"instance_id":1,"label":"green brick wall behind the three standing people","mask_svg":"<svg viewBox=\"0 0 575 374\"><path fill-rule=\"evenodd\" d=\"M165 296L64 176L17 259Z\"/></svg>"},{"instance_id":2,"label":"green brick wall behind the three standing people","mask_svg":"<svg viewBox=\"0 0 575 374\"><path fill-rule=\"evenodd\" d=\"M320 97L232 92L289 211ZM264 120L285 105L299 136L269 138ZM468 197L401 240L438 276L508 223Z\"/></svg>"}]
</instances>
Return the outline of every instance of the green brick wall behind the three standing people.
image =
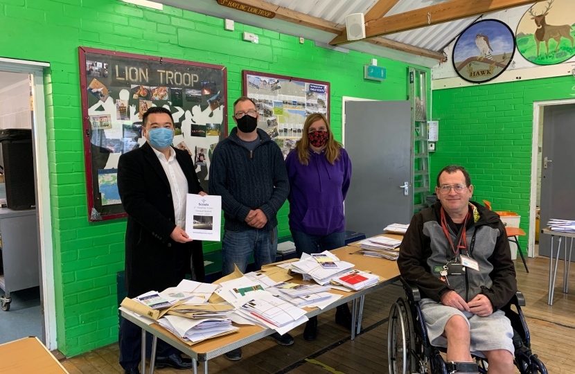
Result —
<instances>
[{"instance_id":1,"label":"green brick wall behind the three standing people","mask_svg":"<svg viewBox=\"0 0 575 374\"><path fill-rule=\"evenodd\" d=\"M51 64L45 76L48 165L57 342L65 355L117 340L116 272L124 266L125 220L87 220L78 46L223 64L228 103L241 94L242 69L329 81L337 139L342 96L407 98L407 64L378 57L387 81L366 81L363 66L375 56L316 48L307 40L299 44L296 37L237 23L230 32L223 25L195 12L167 6L160 12L117 0L0 0L0 55ZM258 34L259 44L242 42L242 31ZM280 235L289 235L287 215L286 205L279 212Z\"/></svg>"}]
</instances>

